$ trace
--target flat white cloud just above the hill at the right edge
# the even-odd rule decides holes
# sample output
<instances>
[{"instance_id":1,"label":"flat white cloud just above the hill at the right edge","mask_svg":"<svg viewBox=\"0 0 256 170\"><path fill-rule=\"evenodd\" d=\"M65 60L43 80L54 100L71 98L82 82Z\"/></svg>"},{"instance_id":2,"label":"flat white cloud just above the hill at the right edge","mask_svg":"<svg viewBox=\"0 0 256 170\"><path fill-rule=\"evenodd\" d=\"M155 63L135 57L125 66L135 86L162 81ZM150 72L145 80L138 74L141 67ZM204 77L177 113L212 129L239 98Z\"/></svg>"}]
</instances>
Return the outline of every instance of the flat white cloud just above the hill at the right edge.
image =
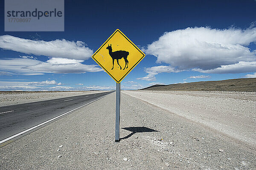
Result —
<instances>
[{"instance_id":1,"label":"flat white cloud just above the hill at the right edge","mask_svg":"<svg viewBox=\"0 0 256 170\"><path fill-rule=\"evenodd\" d=\"M253 62L240 61L239 63L223 65L216 69L209 69L209 70L192 69L192 71L203 72L203 73L213 73L213 74L256 72L256 61L253 61Z\"/></svg>"}]
</instances>

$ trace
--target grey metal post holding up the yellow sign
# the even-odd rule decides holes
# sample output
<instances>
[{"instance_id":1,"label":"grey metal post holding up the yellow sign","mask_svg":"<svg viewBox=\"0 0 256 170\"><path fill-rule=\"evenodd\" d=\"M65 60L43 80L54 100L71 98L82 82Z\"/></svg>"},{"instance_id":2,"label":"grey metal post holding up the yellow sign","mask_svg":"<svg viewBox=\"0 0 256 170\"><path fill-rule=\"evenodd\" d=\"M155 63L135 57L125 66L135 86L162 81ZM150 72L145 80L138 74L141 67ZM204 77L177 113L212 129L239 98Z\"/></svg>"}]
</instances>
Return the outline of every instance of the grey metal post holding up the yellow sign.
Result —
<instances>
[{"instance_id":1,"label":"grey metal post holding up the yellow sign","mask_svg":"<svg viewBox=\"0 0 256 170\"><path fill-rule=\"evenodd\" d=\"M119 124L120 124L120 84L116 83L116 140L119 142Z\"/></svg>"}]
</instances>

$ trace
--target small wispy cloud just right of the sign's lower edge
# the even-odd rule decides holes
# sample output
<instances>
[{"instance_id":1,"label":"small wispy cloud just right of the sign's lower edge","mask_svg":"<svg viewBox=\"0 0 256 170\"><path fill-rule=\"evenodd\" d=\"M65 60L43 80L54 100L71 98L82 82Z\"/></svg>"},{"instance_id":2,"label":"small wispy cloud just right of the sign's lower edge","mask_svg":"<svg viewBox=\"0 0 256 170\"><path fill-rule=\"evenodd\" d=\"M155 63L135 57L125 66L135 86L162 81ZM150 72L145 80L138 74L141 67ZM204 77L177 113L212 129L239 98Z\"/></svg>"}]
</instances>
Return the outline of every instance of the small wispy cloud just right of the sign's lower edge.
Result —
<instances>
[{"instance_id":1,"label":"small wispy cloud just right of the sign's lower edge","mask_svg":"<svg viewBox=\"0 0 256 170\"><path fill-rule=\"evenodd\" d=\"M148 67L144 70L148 75L142 78L137 78L137 80L146 80L146 81L156 81L155 75L158 75L162 72L181 72L181 70L175 69L172 66L154 66Z\"/></svg>"}]
</instances>

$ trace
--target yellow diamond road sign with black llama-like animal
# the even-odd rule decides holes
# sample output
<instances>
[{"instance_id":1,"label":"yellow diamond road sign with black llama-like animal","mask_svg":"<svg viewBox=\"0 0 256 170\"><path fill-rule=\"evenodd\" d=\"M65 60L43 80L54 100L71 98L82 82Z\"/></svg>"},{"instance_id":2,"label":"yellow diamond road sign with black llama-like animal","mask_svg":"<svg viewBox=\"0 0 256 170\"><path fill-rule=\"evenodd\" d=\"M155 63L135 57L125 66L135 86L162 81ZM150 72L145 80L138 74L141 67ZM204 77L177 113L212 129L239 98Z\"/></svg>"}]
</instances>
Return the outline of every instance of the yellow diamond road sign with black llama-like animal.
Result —
<instances>
[{"instance_id":1,"label":"yellow diamond road sign with black llama-like animal","mask_svg":"<svg viewBox=\"0 0 256 170\"><path fill-rule=\"evenodd\" d=\"M145 54L119 29L92 56L116 83L120 83L144 57Z\"/></svg>"}]
</instances>

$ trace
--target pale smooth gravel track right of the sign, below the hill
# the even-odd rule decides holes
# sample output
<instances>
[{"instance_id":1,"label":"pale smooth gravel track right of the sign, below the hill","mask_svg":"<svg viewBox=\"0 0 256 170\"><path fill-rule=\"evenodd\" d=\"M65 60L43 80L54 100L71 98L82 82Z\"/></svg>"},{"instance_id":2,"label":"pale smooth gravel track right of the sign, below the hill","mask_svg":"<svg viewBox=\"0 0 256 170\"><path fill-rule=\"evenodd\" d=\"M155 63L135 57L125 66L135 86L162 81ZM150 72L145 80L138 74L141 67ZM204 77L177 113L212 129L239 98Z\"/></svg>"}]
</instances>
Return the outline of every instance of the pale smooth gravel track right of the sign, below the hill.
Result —
<instances>
[{"instance_id":1,"label":"pale smooth gravel track right of the sign, below the hill","mask_svg":"<svg viewBox=\"0 0 256 170\"><path fill-rule=\"evenodd\" d=\"M123 92L256 148L255 92Z\"/></svg>"}]
</instances>

